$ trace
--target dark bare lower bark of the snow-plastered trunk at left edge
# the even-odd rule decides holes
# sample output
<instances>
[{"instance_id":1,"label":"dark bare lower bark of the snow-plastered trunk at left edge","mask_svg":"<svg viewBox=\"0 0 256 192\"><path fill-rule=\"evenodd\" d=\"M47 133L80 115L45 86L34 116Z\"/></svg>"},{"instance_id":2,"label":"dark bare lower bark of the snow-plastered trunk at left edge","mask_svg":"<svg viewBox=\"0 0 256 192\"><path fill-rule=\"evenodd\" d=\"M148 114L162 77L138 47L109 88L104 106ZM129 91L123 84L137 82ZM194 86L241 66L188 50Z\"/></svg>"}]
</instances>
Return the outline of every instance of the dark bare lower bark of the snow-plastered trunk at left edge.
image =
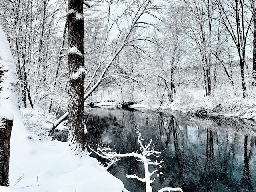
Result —
<instances>
[{"instance_id":1,"label":"dark bare lower bark of the snow-plastered trunk at left edge","mask_svg":"<svg viewBox=\"0 0 256 192\"><path fill-rule=\"evenodd\" d=\"M0 185L9 185L10 139L13 120L0 118Z\"/></svg>"}]
</instances>

